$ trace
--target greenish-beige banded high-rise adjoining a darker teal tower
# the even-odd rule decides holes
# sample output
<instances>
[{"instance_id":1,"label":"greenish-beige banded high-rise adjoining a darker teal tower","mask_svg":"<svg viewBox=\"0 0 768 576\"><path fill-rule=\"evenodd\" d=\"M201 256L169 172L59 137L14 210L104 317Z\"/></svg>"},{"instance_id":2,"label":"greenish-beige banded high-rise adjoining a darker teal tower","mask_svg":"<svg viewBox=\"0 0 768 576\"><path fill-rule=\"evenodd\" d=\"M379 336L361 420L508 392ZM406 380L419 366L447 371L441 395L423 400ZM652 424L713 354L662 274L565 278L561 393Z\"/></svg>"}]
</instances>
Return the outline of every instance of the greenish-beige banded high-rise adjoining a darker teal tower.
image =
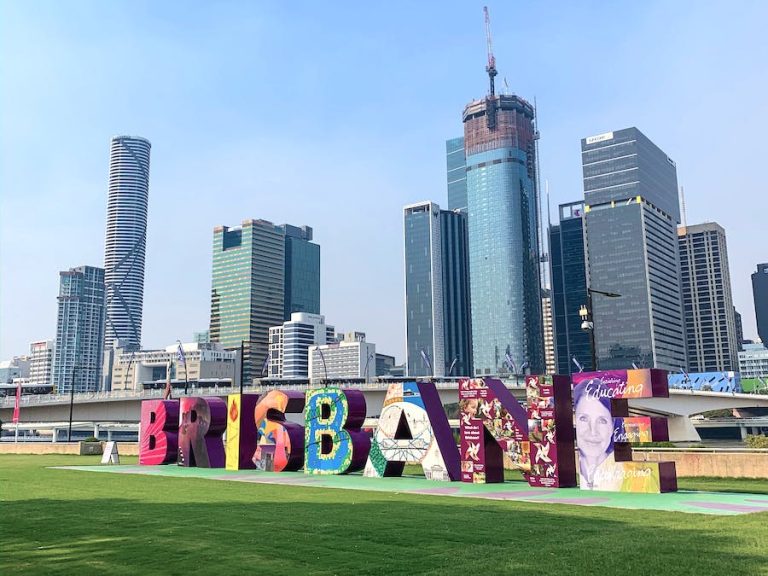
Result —
<instances>
[{"instance_id":1,"label":"greenish-beige banded high-rise adjoining a darker teal tower","mask_svg":"<svg viewBox=\"0 0 768 576\"><path fill-rule=\"evenodd\" d=\"M244 350L246 383L261 375L269 329L285 314L285 232L266 220L213 231L210 338Z\"/></svg>"}]
</instances>

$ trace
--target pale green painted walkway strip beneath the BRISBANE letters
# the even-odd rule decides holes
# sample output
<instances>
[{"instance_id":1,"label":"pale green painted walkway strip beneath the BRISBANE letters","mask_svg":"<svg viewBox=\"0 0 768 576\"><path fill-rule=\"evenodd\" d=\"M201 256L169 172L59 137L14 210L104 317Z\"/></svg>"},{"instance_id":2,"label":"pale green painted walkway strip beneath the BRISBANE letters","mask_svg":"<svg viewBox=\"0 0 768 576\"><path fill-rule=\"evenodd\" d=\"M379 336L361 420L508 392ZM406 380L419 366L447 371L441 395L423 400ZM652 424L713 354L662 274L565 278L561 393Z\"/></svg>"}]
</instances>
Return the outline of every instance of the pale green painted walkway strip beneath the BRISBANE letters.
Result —
<instances>
[{"instance_id":1,"label":"pale green painted walkway strip beneath the BRISBANE letters","mask_svg":"<svg viewBox=\"0 0 768 576\"><path fill-rule=\"evenodd\" d=\"M517 500L547 504L577 504L607 506L637 510L697 512L700 514L748 514L768 512L768 495L730 492L680 491L668 494L626 494L620 492L591 492L578 488L532 488L525 482L503 484L466 484L463 482L434 482L425 478L365 478L360 474L341 476L309 475L302 472L258 472L256 470L224 470L221 468L185 468L166 466L61 466L68 470L106 472L113 474L146 474L179 478L208 478L255 484L279 484L316 488L401 492L459 498Z\"/></svg>"}]
</instances>

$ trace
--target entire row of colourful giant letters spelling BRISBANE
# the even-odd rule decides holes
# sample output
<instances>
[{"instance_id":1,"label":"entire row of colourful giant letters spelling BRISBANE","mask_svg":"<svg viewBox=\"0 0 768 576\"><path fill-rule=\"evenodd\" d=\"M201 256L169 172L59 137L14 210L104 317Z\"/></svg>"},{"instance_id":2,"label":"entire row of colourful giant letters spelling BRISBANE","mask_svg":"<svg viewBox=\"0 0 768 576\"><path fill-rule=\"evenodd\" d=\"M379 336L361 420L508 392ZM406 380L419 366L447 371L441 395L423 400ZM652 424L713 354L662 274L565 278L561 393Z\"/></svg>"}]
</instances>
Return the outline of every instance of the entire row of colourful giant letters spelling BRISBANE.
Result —
<instances>
[{"instance_id":1,"label":"entire row of colourful giant letters spelling BRISBANE","mask_svg":"<svg viewBox=\"0 0 768 576\"><path fill-rule=\"evenodd\" d=\"M632 459L632 444L669 439L665 418L632 417L628 407L669 396L662 370L527 376L525 407L500 380L458 387L458 438L431 382L390 384L372 433L363 429L363 393L335 386L145 400L139 463L374 478L416 464L428 480L473 483L503 482L516 469L535 487L677 490L674 462Z\"/></svg>"}]
</instances>

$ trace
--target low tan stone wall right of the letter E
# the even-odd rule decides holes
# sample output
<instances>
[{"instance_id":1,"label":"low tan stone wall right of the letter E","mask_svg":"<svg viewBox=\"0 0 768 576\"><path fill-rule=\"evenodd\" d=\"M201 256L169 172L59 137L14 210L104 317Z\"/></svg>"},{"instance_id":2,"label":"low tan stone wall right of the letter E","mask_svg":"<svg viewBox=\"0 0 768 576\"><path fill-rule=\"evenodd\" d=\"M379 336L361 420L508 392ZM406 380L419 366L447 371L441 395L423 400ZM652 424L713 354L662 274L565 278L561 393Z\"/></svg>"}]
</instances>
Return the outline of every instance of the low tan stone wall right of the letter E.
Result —
<instances>
[{"instance_id":1,"label":"low tan stone wall right of the letter E","mask_svg":"<svg viewBox=\"0 0 768 576\"><path fill-rule=\"evenodd\" d=\"M633 460L674 462L678 476L768 478L765 452L673 452L633 450Z\"/></svg>"}]
</instances>

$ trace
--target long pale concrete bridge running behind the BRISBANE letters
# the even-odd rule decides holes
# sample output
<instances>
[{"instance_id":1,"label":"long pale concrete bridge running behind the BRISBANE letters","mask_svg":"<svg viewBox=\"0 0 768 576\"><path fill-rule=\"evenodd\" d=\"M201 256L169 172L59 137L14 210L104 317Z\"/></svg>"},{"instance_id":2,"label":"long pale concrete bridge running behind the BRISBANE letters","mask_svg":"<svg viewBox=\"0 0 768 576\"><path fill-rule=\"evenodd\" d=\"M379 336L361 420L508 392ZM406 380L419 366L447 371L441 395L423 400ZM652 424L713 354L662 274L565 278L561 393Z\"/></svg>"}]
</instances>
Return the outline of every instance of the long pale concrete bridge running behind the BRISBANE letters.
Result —
<instances>
[{"instance_id":1,"label":"long pale concrete bridge running behind the BRISBANE letters","mask_svg":"<svg viewBox=\"0 0 768 576\"><path fill-rule=\"evenodd\" d=\"M525 386L515 380L505 381L507 388L520 400L525 400ZM435 386L443 404L458 402L458 382L436 381ZM349 388L362 390L365 394L369 418L375 418L381 412L388 383L371 382L348 385ZM252 394L265 394L270 390L306 391L306 384L265 386L245 386L243 391ZM188 396L219 396L238 393L239 388L214 387L190 389ZM174 398L184 396L183 392L174 389ZM50 428L51 423L69 421L70 402L72 403L72 419L79 426L83 423L136 424L141 418L141 401L159 399L163 390L117 391L69 394L40 394L21 397L20 426L25 429ZM6 397L0 401L0 420L6 423L5 429L10 428L15 398ZM741 394L734 392L703 392L700 390L670 389L669 398L643 398L629 401L630 412L636 415L664 416L669 421L670 440L677 442L697 442L701 440L696 427L705 427L707 420L692 420L691 416L710 410L734 408L768 408L768 396L756 394ZM299 415L288 415L299 421ZM735 420L727 419L721 426L736 425ZM754 432L763 426L762 420L743 420L742 437L748 431ZM93 424L91 424L93 426ZM745 431L746 430L746 431Z\"/></svg>"}]
</instances>

